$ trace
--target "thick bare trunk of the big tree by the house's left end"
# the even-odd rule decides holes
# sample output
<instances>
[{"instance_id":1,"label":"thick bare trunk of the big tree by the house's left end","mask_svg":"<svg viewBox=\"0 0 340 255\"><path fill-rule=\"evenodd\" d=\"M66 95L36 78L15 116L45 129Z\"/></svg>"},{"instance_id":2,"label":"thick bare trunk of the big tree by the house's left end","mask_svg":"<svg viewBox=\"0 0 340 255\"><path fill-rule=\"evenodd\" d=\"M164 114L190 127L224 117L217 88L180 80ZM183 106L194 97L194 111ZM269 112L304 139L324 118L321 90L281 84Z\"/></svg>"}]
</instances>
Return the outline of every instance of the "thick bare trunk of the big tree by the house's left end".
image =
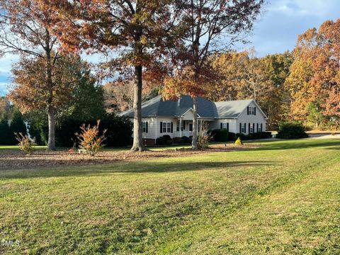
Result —
<instances>
[{"instance_id":1,"label":"thick bare trunk of the big tree by the house's left end","mask_svg":"<svg viewBox=\"0 0 340 255\"><path fill-rule=\"evenodd\" d=\"M144 150L142 139L142 66L135 66L135 84L133 98L133 145L134 152Z\"/></svg>"}]
</instances>

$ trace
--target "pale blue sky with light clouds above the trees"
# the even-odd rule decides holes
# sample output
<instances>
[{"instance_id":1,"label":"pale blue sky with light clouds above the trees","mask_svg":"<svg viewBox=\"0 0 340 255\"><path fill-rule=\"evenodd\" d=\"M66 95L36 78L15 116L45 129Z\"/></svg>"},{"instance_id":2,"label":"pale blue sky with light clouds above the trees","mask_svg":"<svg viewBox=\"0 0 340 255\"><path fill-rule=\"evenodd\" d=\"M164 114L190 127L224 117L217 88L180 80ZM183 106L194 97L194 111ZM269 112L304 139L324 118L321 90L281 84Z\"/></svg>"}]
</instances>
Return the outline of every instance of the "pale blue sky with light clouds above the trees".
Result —
<instances>
[{"instance_id":1,"label":"pale blue sky with light clouds above the trees","mask_svg":"<svg viewBox=\"0 0 340 255\"><path fill-rule=\"evenodd\" d=\"M236 50L255 47L259 57L293 50L297 35L308 28L319 28L327 20L340 18L340 0L267 0L263 14L254 26L250 43ZM96 60L96 57L89 57ZM0 58L0 96L8 91L11 64L16 56Z\"/></svg>"}]
</instances>

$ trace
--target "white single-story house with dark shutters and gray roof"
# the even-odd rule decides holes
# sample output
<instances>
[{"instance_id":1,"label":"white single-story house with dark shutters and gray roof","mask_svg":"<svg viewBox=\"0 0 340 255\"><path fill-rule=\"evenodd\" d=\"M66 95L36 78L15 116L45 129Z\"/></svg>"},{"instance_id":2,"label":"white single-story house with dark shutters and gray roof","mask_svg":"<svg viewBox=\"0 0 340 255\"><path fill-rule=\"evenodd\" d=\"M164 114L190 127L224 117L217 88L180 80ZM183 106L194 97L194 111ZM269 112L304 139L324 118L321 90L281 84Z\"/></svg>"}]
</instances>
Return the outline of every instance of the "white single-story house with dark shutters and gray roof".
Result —
<instances>
[{"instance_id":1,"label":"white single-story house with dark shutters and gray roof","mask_svg":"<svg viewBox=\"0 0 340 255\"><path fill-rule=\"evenodd\" d=\"M133 109L120 113L133 121ZM267 117L254 100L212 102L198 98L198 125L208 129L227 129L249 134L266 131ZM181 96L178 101L164 101L162 96L142 103L142 135L145 145L154 145L163 135L191 137L193 132L193 99Z\"/></svg>"}]
</instances>

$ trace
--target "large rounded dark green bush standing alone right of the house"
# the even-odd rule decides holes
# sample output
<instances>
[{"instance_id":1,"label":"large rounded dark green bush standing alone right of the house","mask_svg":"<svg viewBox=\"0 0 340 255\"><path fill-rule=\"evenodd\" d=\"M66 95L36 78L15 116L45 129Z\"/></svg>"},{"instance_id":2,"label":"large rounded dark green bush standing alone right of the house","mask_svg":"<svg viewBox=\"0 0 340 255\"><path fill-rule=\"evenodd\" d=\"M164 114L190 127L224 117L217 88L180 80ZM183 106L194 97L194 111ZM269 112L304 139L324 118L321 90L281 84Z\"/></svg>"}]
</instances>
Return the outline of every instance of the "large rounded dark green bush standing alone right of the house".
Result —
<instances>
[{"instance_id":1,"label":"large rounded dark green bush standing alone right of the house","mask_svg":"<svg viewBox=\"0 0 340 255\"><path fill-rule=\"evenodd\" d=\"M305 131L305 127L301 123L280 122L278 123L278 135L276 137L281 139L305 138L308 137Z\"/></svg>"}]
</instances>

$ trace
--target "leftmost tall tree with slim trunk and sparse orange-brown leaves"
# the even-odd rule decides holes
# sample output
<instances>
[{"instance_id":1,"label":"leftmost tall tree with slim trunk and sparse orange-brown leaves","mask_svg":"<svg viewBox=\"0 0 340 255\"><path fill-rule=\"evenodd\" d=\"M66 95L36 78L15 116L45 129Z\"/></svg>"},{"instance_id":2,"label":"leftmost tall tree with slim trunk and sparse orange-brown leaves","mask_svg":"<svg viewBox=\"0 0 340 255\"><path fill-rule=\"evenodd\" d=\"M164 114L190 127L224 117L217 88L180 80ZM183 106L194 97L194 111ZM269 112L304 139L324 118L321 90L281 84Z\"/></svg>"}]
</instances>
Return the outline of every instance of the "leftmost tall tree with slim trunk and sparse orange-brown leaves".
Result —
<instances>
[{"instance_id":1,"label":"leftmost tall tree with slim trunk and sparse orange-brown leaves","mask_svg":"<svg viewBox=\"0 0 340 255\"><path fill-rule=\"evenodd\" d=\"M45 106L47 107L49 135L48 148L55 149L55 94L60 90L54 84L54 68L60 58L57 38L50 33L50 8L42 8L40 1L0 1L0 53L14 53L39 58L40 80L44 78ZM23 57L23 56L22 56Z\"/></svg>"}]
</instances>

